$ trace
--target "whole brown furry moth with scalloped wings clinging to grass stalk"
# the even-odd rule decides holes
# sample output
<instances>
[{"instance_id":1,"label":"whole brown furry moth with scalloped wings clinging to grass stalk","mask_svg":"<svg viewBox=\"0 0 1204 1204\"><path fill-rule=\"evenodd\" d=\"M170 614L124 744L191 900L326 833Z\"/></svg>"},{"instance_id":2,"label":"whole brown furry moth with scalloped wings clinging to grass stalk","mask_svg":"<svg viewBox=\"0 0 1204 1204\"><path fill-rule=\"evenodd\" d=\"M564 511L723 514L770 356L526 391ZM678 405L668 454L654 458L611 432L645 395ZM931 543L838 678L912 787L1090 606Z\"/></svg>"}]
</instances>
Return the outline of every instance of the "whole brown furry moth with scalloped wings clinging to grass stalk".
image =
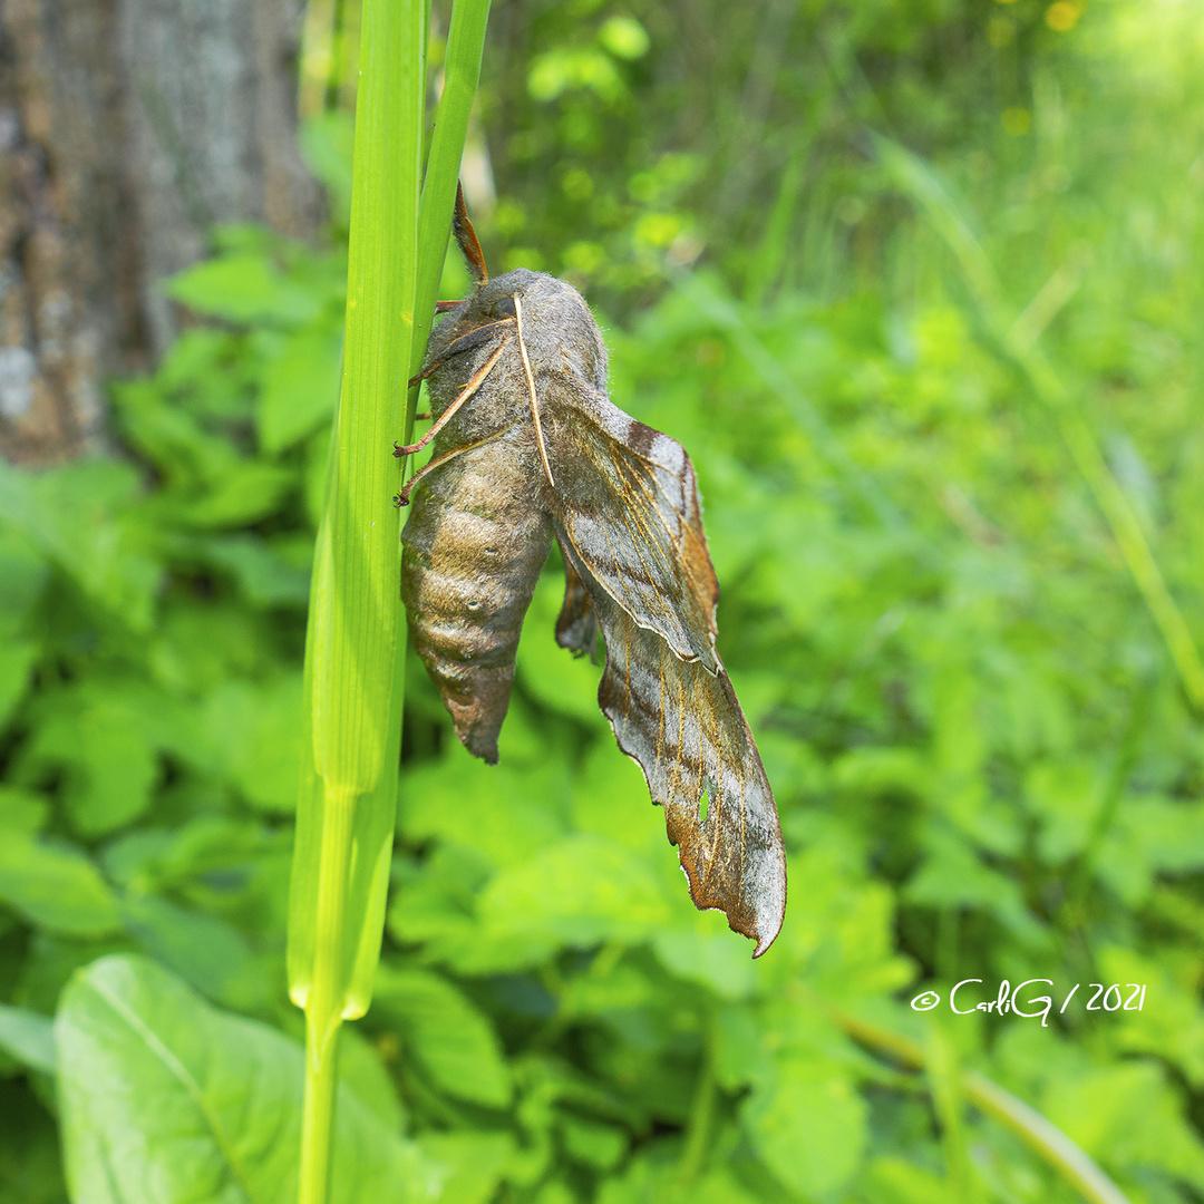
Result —
<instances>
[{"instance_id":1,"label":"whole brown furry moth with scalloped wings clinging to grass stalk","mask_svg":"<svg viewBox=\"0 0 1204 1204\"><path fill-rule=\"evenodd\" d=\"M519 632L551 548L565 561L556 641L606 642L598 703L666 811L690 895L756 942L781 927L786 862L773 792L715 651L719 584L685 449L607 395L582 295L519 268L489 278L456 200L476 284L439 302L421 372L431 461L395 498L411 641L465 748L490 765Z\"/></svg>"}]
</instances>

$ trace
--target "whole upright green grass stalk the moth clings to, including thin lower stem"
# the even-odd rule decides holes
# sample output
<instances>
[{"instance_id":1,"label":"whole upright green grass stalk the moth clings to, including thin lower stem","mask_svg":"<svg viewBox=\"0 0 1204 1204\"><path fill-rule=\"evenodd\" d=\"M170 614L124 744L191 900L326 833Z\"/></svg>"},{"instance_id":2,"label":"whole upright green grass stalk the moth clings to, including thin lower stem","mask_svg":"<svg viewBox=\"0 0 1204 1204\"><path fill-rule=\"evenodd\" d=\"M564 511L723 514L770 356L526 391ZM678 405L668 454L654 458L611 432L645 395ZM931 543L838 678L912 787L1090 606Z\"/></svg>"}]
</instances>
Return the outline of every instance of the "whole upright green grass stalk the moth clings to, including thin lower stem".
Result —
<instances>
[{"instance_id":1,"label":"whole upright green grass stalk the moth clings to, including thin lower stem","mask_svg":"<svg viewBox=\"0 0 1204 1204\"><path fill-rule=\"evenodd\" d=\"M311 589L289 913L290 993L306 1013L302 1204L326 1199L338 1031L366 1007L352 980L371 980L379 950L397 797L390 443L414 325L425 22L423 0L365 0L361 16L343 384Z\"/></svg>"}]
</instances>

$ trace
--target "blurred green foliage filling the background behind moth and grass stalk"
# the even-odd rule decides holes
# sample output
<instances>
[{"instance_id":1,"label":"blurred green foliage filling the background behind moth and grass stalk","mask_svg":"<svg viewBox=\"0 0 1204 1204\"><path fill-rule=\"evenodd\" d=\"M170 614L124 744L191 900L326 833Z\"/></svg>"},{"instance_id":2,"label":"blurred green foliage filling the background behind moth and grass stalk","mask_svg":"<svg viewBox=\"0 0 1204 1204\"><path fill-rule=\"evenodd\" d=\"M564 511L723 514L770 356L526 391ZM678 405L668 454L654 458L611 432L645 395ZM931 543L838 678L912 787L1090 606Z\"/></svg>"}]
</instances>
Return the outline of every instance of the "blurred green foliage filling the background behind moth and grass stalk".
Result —
<instances>
[{"instance_id":1,"label":"blurred green foliage filling the background behind moth and grass stalk","mask_svg":"<svg viewBox=\"0 0 1204 1204\"><path fill-rule=\"evenodd\" d=\"M1202 67L1170 0L497 7L486 255L601 300L614 400L695 459L790 901L757 963L692 909L598 671L554 645L549 565L498 767L411 659L347 1199L1079 1198L967 1108L966 1069L1131 1200L1204 1194L1199 716L1056 421L868 136L961 197L1200 633ZM4 1204L64 1198L60 1132L89 1204L290 1198L346 124L306 146L329 248L220 232L167 285L207 320L113 388L120 454L0 467ZM465 281L449 261L444 295ZM967 1007L1033 978L1047 1025L949 1010L961 979ZM1145 984L1143 1009L1087 1010L1093 982Z\"/></svg>"}]
</instances>

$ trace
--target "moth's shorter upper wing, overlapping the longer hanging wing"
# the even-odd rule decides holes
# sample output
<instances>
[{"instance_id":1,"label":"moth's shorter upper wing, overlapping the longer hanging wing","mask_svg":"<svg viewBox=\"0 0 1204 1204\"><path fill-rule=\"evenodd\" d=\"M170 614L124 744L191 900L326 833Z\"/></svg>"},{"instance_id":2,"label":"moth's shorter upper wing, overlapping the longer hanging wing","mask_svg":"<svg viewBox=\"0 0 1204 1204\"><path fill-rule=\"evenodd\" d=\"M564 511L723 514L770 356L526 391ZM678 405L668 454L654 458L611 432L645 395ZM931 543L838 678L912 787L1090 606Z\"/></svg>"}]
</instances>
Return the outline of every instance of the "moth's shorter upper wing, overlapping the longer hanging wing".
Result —
<instances>
[{"instance_id":1,"label":"moth's shorter upper wing, overlapping the longer hanging wing","mask_svg":"<svg viewBox=\"0 0 1204 1204\"><path fill-rule=\"evenodd\" d=\"M685 448L572 376L541 384L551 508L565 541L639 627L718 672L719 583Z\"/></svg>"}]
</instances>

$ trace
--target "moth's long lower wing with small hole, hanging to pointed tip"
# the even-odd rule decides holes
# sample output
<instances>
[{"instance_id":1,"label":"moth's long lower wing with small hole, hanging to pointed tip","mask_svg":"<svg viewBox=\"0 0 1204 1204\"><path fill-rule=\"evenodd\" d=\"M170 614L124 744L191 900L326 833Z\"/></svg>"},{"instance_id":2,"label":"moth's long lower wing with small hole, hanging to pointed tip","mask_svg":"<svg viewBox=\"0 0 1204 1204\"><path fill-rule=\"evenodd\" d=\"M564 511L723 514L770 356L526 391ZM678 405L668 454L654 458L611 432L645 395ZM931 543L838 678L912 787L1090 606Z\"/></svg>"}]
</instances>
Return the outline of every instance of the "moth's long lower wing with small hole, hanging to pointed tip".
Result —
<instances>
[{"instance_id":1,"label":"moth's long lower wing with small hole, hanging to pointed tip","mask_svg":"<svg viewBox=\"0 0 1204 1204\"><path fill-rule=\"evenodd\" d=\"M752 956L760 957L781 928L786 854L732 683L721 663L712 673L701 660L684 661L637 625L562 536L561 549L606 637L598 703L619 746L644 771L653 802L665 808L690 897L724 911L736 932L756 942Z\"/></svg>"}]
</instances>

